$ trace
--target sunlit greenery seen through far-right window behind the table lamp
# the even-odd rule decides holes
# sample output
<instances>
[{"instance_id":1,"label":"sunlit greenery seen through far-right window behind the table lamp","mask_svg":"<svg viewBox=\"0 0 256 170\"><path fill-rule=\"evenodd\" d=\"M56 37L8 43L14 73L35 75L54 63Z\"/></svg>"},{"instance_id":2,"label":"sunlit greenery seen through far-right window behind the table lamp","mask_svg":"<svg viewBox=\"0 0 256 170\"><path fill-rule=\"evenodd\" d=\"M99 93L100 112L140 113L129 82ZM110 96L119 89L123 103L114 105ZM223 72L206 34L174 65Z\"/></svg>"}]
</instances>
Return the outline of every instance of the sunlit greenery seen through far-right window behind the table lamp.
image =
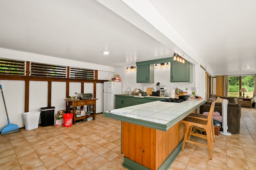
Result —
<instances>
[{"instance_id":1,"label":"sunlit greenery seen through far-right window behind the table lamp","mask_svg":"<svg viewBox=\"0 0 256 170\"><path fill-rule=\"evenodd\" d=\"M248 92L244 92L244 97L253 97L254 90L254 78L255 76L241 76L241 82L239 81L239 76L229 76L228 77L228 96L229 97L239 97L239 91L241 88L246 88ZM240 86L241 84L242 86ZM241 94L243 95L243 93Z\"/></svg>"}]
</instances>

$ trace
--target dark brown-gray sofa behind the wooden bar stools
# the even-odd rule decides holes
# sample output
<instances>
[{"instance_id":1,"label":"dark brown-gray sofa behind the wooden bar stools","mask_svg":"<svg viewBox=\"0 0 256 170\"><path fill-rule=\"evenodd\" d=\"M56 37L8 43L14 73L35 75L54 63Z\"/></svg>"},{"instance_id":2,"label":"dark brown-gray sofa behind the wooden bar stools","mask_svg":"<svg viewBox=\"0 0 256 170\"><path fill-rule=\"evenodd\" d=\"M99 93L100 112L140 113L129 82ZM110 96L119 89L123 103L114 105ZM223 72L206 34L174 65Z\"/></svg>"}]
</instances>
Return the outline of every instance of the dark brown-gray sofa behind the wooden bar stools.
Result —
<instances>
[{"instance_id":1,"label":"dark brown-gray sofa behind the wooden bar stools","mask_svg":"<svg viewBox=\"0 0 256 170\"><path fill-rule=\"evenodd\" d=\"M200 106L200 113L209 111L213 101L216 101L217 97L228 100L228 132L240 133L240 119L241 119L241 106L236 104L234 98L212 96L204 104ZM222 115L222 103L215 103L214 111L218 111Z\"/></svg>"}]
</instances>

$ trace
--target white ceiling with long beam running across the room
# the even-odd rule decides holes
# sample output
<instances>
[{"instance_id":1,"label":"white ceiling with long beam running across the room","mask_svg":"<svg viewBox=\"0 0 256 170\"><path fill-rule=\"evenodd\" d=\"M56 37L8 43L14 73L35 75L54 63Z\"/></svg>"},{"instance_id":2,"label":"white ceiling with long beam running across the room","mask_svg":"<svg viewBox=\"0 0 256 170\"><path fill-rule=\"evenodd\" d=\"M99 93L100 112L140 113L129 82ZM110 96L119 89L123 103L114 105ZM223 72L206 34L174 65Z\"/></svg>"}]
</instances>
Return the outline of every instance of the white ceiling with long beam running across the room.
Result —
<instances>
[{"instance_id":1,"label":"white ceiling with long beam running across the room","mask_svg":"<svg viewBox=\"0 0 256 170\"><path fill-rule=\"evenodd\" d=\"M214 76L256 74L255 6L254 0L0 0L0 48L113 67L176 52Z\"/></svg>"}]
</instances>

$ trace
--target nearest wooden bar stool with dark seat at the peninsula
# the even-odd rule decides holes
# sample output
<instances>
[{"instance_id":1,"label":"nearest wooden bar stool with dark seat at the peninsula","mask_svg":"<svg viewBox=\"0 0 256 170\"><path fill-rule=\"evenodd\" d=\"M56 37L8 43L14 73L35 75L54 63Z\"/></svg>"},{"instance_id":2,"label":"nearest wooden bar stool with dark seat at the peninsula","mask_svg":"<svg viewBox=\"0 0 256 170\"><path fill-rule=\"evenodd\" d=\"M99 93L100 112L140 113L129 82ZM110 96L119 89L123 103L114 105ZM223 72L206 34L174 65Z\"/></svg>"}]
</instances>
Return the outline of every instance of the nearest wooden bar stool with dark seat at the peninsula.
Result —
<instances>
[{"instance_id":1,"label":"nearest wooden bar stool with dark seat at the peninsula","mask_svg":"<svg viewBox=\"0 0 256 170\"><path fill-rule=\"evenodd\" d=\"M202 118L202 117L193 117L193 116L187 116L185 117L182 122L186 124L186 130L185 130L185 134L184 134L184 139L183 139L183 145L182 145L182 149L184 150L185 147L185 143L193 143L195 145L200 145L203 147L208 147L209 150L209 155L210 155L210 160L212 160L212 150L213 150L213 135L214 135L214 131L212 131L213 128L213 111L214 111L214 106L215 106L215 102L212 102L212 105L210 107L210 111L209 111L209 115L206 118ZM192 131L192 127L199 127L202 128L206 131L206 135L202 135L199 133L194 133ZM202 143L198 143L198 142L194 142L194 141L190 141L190 136L196 136L196 137L200 137L203 139L207 139L207 144L202 144Z\"/></svg>"}]
</instances>

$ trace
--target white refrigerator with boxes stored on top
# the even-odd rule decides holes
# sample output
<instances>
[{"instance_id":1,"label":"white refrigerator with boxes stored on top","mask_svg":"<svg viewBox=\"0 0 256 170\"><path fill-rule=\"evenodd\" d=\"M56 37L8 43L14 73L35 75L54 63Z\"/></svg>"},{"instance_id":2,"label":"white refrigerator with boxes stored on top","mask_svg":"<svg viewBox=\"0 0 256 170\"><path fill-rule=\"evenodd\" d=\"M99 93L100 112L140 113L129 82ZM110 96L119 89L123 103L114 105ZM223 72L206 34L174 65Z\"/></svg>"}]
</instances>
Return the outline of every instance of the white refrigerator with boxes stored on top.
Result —
<instances>
[{"instance_id":1,"label":"white refrigerator with boxes stored on top","mask_svg":"<svg viewBox=\"0 0 256 170\"><path fill-rule=\"evenodd\" d=\"M122 94L122 82L104 82L104 111L115 109L115 94Z\"/></svg>"}]
</instances>

